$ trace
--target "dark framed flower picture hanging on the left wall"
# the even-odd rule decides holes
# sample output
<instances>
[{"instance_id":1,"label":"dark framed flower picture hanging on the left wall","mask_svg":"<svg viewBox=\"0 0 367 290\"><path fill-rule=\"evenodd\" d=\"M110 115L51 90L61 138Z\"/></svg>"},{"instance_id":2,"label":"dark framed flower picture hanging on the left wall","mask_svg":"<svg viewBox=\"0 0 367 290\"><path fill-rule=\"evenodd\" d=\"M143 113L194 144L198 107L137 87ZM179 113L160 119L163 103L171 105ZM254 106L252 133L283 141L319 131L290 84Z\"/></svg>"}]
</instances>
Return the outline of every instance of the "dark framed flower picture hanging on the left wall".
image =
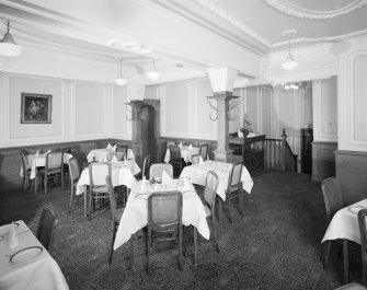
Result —
<instances>
[{"instance_id":1,"label":"dark framed flower picture hanging on the left wall","mask_svg":"<svg viewBox=\"0 0 367 290\"><path fill-rule=\"evenodd\" d=\"M21 124L50 124L53 95L22 93Z\"/></svg>"}]
</instances>

